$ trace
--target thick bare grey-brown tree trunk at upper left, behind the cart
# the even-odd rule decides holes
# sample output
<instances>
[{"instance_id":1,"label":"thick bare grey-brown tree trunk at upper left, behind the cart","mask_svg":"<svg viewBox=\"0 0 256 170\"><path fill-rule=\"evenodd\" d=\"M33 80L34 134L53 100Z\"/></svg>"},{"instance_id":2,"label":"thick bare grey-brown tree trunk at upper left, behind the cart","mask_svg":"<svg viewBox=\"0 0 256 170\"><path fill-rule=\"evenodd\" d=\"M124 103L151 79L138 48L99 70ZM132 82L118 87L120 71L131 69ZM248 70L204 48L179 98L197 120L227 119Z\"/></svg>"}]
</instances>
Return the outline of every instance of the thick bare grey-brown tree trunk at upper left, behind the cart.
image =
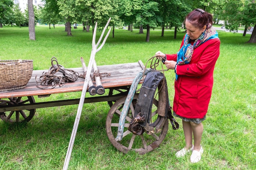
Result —
<instances>
[{"instance_id":1,"label":"thick bare grey-brown tree trunk at upper left, behind the cart","mask_svg":"<svg viewBox=\"0 0 256 170\"><path fill-rule=\"evenodd\" d=\"M29 40L36 40L33 0L27 0L27 7L29 11Z\"/></svg>"}]
</instances>

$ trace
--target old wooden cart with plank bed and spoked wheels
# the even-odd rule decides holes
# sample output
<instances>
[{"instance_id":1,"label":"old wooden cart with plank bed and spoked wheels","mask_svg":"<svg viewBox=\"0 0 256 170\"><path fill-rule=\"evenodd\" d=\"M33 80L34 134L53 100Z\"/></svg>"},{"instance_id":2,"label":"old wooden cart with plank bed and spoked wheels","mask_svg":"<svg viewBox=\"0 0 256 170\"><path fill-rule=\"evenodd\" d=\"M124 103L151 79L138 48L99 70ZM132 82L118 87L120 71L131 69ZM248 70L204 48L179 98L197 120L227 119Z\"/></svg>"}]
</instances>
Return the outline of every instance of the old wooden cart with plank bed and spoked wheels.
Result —
<instances>
[{"instance_id":1,"label":"old wooden cart with plank bed and spoked wheels","mask_svg":"<svg viewBox=\"0 0 256 170\"><path fill-rule=\"evenodd\" d=\"M83 74L83 68L70 68ZM119 126L119 116L124 106L126 96L136 75L144 70L141 61L127 64L115 64L98 66L100 73L108 73L110 76L102 77L101 83L105 89L109 89L108 94L86 97L84 103L108 102L110 110L106 119L106 132L110 142L121 152L135 150L140 154L149 152L159 146L168 131L168 119L164 119L163 126L155 132L144 132L142 135L134 135L128 130L129 123L134 115L134 107L138 94L135 94L130 105L124 124L124 135L121 141L116 141L117 128ZM36 103L33 96L49 97L57 93L69 93L82 91L84 79L78 78L75 82L67 82L62 87L40 89L36 87L36 75L40 76L48 70L34 70L25 88L12 91L0 92L0 118L6 122L14 123L30 121L36 112L36 108L46 108L54 106L64 106L79 104L80 99L65 99L50 102ZM93 71L91 73L93 77ZM94 82L95 83L95 82ZM141 82L140 82L141 83ZM152 120L157 120L157 100L152 107ZM159 128L159 127L158 127Z\"/></svg>"}]
</instances>

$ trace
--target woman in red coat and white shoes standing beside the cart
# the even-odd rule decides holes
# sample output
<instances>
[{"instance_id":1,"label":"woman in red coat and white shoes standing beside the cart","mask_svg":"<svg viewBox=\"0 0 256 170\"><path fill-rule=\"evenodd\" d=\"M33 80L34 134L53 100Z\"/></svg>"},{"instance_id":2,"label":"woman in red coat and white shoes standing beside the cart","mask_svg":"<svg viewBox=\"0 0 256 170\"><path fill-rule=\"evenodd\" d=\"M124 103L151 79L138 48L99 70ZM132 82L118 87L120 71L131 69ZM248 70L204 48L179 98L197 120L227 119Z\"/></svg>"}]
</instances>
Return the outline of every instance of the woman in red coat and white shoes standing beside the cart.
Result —
<instances>
[{"instance_id":1,"label":"woman in red coat and white shoes standing beside the cart","mask_svg":"<svg viewBox=\"0 0 256 170\"><path fill-rule=\"evenodd\" d=\"M212 27L212 19L212 15L202 9L191 11L186 16L186 35L177 54L155 53L165 57L166 68L176 73L173 115L182 119L186 146L175 155L183 157L192 151L192 163L200 161L203 153L202 121L206 118L213 70L220 54L220 40Z\"/></svg>"}]
</instances>

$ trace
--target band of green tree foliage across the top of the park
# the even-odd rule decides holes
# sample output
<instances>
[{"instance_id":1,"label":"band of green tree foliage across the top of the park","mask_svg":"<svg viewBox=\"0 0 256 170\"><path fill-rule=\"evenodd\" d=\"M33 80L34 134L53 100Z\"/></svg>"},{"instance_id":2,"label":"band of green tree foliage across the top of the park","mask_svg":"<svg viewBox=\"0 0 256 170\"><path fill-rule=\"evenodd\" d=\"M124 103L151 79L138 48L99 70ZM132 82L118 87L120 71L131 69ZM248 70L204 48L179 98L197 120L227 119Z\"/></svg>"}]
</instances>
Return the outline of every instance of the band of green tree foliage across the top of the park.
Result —
<instances>
[{"instance_id":1,"label":"band of green tree foliage across the top of the park","mask_svg":"<svg viewBox=\"0 0 256 170\"><path fill-rule=\"evenodd\" d=\"M8 2L11 0L2 0L0 7L3 4L7 5ZM101 30L110 17L112 19L109 25L113 26L113 29L131 24L135 28L147 26L147 31L157 26L162 26L163 31L164 26L179 28L185 16L195 8L202 8L212 13L214 22L225 20L226 29L234 32L240 24L245 27L256 24L255 0L44 0L44 2L45 7L41 9L40 17L37 18L38 12L34 8L36 20L48 24L56 24L63 20L69 24L83 23L83 26L86 24L88 31L90 26L94 28L96 21ZM3 9L6 8L0 8L2 10L0 23L13 23L11 11L4 12ZM68 30L65 31L71 35L69 27L67 26ZM146 40L149 40L149 33L146 36ZM255 37L256 33L253 33L252 39L256 39Z\"/></svg>"}]
</instances>

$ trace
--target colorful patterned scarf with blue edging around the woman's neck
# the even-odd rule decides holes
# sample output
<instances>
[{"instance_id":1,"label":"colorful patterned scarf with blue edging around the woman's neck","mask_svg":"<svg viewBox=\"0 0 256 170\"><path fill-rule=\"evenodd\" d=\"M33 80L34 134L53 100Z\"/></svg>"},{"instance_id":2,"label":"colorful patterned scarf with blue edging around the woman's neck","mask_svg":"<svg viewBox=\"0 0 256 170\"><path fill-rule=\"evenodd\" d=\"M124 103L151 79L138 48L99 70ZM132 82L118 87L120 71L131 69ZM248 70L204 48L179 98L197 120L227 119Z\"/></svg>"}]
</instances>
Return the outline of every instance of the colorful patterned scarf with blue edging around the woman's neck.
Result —
<instances>
[{"instance_id":1,"label":"colorful patterned scarf with blue edging around the woman's neck","mask_svg":"<svg viewBox=\"0 0 256 170\"><path fill-rule=\"evenodd\" d=\"M211 25L210 25L211 26ZM191 61L194 49L206 42L207 40L218 38L218 32L211 26L210 29L206 29L198 39L195 40L194 44L190 44L190 37L188 34L185 35L184 44L181 49L177 52L177 64L189 64ZM176 74L176 80L178 75Z\"/></svg>"}]
</instances>

